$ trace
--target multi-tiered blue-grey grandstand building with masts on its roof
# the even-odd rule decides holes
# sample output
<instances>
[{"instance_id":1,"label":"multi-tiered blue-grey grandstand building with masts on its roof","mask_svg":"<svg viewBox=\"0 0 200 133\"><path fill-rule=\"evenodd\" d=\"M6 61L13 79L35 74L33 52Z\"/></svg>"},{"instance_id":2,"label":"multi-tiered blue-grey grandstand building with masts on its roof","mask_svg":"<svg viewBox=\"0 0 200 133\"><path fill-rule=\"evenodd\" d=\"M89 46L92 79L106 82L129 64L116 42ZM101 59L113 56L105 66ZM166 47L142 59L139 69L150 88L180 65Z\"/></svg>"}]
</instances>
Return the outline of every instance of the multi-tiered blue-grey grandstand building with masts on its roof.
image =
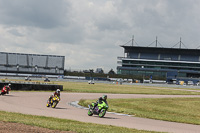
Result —
<instances>
[{"instance_id":1,"label":"multi-tiered blue-grey grandstand building with masts on its roof","mask_svg":"<svg viewBox=\"0 0 200 133\"><path fill-rule=\"evenodd\" d=\"M200 77L200 50L121 46L124 57L118 57L118 74L145 77Z\"/></svg>"}]
</instances>

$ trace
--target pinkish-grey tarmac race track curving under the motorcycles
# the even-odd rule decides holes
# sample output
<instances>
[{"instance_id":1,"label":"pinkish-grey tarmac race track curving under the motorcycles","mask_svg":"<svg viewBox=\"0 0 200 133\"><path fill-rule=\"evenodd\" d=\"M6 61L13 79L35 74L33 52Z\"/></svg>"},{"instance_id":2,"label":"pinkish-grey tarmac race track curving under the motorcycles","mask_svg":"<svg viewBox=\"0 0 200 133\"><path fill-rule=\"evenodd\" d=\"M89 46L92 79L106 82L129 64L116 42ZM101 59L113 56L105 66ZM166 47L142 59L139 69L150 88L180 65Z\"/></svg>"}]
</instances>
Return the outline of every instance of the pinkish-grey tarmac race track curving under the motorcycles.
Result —
<instances>
[{"instance_id":1,"label":"pinkish-grey tarmac race track curving under the motorcycles","mask_svg":"<svg viewBox=\"0 0 200 133\"><path fill-rule=\"evenodd\" d=\"M56 109L47 108L46 101L50 92L11 92L10 95L0 96L0 110L18 112L23 114L51 116L72 119L82 122L114 125L139 130L174 132L174 133L199 133L199 125L166 122L138 117L130 117L107 113L105 118L87 116L87 110L70 106L72 101L80 99L97 99L102 96L98 93L62 93L61 101ZM200 97L180 95L137 95L137 94L108 94L108 98L165 98L165 97Z\"/></svg>"}]
</instances>

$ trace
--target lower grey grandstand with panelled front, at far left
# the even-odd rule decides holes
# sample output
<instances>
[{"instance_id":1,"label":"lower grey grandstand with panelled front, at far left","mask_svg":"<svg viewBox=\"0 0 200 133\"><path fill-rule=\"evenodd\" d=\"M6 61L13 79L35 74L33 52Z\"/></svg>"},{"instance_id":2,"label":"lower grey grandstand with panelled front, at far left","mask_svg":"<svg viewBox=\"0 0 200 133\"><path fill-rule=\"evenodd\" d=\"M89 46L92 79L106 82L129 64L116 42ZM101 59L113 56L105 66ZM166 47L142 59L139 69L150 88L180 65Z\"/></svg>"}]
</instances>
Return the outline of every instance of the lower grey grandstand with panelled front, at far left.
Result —
<instances>
[{"instance_id":1,"label":"lower grey grandstand with panelled front, at far left","mask_svg":"<svg viewBox=\"0 0 200 133\"><path fill-rule=\"evenodd\" d=\"M64 56L0 52L0 73L63 75Z\"/></svg>"}]
</instances>

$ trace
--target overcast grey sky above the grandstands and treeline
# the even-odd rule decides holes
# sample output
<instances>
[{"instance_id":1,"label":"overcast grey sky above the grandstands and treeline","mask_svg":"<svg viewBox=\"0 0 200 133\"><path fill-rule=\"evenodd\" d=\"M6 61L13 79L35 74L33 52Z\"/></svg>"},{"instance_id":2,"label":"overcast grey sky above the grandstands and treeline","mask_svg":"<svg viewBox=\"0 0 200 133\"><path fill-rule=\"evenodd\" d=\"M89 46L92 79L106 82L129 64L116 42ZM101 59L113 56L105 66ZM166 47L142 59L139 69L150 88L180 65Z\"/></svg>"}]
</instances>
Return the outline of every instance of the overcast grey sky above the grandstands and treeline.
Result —
<instances>
[{"instance_id":1,"label":"overcast grey sky above the grandstands and treeline","mask_svg":"<svg viewBox=\"0 0 200 133\"><path fill-rule=\"evenodd\" d=\"M199 0L0 0L0 52L63 55L65 69L116 71L120 45L133 35L139 46L157 36L163 47L180 37L199 47L199 7Z\"/></svg>"}]
</instances>

